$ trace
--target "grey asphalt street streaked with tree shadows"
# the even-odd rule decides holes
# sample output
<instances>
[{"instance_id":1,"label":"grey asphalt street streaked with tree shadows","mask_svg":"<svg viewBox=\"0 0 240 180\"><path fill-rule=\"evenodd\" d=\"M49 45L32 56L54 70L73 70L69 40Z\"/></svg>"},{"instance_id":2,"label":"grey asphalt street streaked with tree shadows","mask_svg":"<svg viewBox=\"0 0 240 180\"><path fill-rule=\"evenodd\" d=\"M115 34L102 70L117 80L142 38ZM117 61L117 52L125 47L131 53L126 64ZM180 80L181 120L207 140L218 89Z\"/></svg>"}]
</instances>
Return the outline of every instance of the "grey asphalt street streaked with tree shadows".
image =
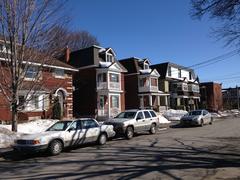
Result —
<instances>
[{"instance_id":1,"label":"grey asphalt street streaked with tree shadows","mask_svg":"<svg viewBox=\"0 0 240 180\"><path fill-rule=\"evenodd\" d=\"M240 118L87 145L54 157L11 153L0 179L240 179Z\"/></svg>"}]
</instances>

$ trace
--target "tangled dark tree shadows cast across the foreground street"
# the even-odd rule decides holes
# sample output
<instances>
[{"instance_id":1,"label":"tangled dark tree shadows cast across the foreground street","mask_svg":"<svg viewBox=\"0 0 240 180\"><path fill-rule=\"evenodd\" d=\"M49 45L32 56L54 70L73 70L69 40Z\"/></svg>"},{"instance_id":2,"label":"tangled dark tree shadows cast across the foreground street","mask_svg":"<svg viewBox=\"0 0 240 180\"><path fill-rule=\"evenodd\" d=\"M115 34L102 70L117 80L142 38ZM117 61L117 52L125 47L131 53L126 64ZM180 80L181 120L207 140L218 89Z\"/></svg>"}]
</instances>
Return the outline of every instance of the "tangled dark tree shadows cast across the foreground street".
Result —
<instances>
[{"instance_id":1,"label":"tangled dark tree shadows cast across the foreground street","mask_svg":"<svg viewBox=\"0 0 240 180\"><path fill-rule=\"evenodd\" d=\"M230 146L229 139L215 139L221 143L219 146L207 146L204 148L186 145L181 139L175 139L177 146L157 147L153 142L151 146L121 146L106 145L103 148L82 148L71 153L63 153L58 157L46 157L38 161L23 161L14 164L13 169L6 168L0 163L0 172L19 171L22 178L30 179L32 175L27 172L34 172L34 176L46 179L73 178L90 179L115 177L114 179L132 179L147 176L149 173L159 173L171 179L180 179L174 175L174 170L196 170L196 168L215 169L240 167L239 147ZM240 138L234 141L240 142ZM220 152L221 151L221 152ZM84 158L87 157L93 158ZM61 160L61 158L65 160ZM79 158L78 158L79 157ZM82 158L80 158L82 157ZM32 157L33 158L33 157ZM30 163L30 164L29 164ZM24 167L21 165L25 164ZM27 164L27 166L26 166ZM75 167L74 170L65 169L54 171L55 167ZM45 168L41 171L42 168ZM9 178L17 178L19 175L12 175ZM117 177L117 178L116 178Z\"/></svg>"}]
</instances>

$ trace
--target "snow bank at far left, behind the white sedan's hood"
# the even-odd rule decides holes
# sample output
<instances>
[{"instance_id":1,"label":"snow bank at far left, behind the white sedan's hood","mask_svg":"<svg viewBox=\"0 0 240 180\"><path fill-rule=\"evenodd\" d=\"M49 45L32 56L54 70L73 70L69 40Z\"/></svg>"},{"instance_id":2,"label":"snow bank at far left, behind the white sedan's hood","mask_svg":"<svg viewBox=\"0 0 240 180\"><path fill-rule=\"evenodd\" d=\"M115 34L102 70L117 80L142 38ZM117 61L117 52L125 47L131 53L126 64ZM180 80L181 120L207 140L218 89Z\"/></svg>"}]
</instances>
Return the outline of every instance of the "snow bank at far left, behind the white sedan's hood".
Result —
<instances>
[{"instance_id":1,"label":"snow bank at far left, behind the white sedan's hood","mask_svg":"<svg viewBox=\"0 0 240 180\"><path fill-rule=\"evenodd\" d=\"M11 125L0 124L0 148L10 147L14 143L14 140L22 134L34 134L45 131L56 121L58 120L39 119L18 124L17 133L11 131Z\"/></svg>"}]
</instances>

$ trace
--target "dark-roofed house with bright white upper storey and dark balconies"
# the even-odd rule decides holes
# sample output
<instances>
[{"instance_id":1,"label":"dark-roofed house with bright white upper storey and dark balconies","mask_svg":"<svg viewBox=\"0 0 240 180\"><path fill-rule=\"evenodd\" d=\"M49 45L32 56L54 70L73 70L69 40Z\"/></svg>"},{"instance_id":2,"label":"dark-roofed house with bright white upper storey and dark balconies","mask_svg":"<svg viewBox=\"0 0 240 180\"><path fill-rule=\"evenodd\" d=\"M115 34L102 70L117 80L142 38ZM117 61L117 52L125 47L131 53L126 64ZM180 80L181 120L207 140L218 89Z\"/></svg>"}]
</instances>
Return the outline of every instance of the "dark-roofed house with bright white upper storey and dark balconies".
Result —
<instances>
[{"instance_id":1,"label":"dark-roofed house with bright white upper storey and dark balconies","mask_svg":"<svg viewBox=\"0 0 240 180\"><path fill-rule=\"evenodd\" d=\"M152 65L160 74L160 90L170 93L172 109L194 110L199 108L199 80L194 70L166 62Z\"/></svg>"}]
</instances>

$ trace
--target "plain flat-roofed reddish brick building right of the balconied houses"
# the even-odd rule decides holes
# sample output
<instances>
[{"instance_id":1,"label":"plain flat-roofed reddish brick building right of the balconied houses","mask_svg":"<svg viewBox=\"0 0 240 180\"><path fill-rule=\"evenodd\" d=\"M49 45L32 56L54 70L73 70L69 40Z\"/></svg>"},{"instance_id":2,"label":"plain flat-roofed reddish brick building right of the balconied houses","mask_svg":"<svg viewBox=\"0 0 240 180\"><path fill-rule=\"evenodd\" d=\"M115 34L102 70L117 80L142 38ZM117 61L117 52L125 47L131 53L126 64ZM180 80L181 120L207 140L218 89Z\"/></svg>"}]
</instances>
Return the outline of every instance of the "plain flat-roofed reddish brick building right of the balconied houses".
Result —
<instances>
[{"instance_id":1,"label":"plain flat-roofed reddish brick building right of the balconied houses","mask_svg":"<svg viewBox=\"0 0 240 180\"><path fill-rule=\"evenodd\" d=\"M209 111L223 109L222 85L214 82L200 84L201 107Z\"/></svg>"}]
</instances>

